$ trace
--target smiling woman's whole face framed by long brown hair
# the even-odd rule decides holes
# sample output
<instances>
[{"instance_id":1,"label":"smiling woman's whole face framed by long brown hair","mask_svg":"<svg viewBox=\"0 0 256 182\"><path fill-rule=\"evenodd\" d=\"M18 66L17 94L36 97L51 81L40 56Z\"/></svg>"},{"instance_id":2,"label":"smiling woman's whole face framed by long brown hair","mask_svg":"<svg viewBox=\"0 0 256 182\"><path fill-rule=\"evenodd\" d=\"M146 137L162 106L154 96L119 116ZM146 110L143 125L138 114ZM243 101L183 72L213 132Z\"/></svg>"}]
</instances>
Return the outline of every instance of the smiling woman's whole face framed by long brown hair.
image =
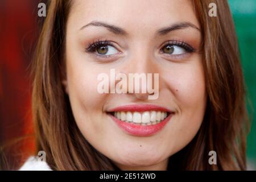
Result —
<instances>
[{"instance_id":1,"label":"smiling woman's whole face framed by long brown hair","mask_svg":"<svg viewBox=\"0 0 256 182\"><path fill-rule=\"evenodd\" d=\"M121 169L165 169L203 121L207 94L200 45L192 1L73 1L64 81L86 140ZM159 81L152 79L159 84L158 98L99 93L98 75L106 73L110 82L110 69L127 78L158 73Z\"/></svg>"}]
</instances>

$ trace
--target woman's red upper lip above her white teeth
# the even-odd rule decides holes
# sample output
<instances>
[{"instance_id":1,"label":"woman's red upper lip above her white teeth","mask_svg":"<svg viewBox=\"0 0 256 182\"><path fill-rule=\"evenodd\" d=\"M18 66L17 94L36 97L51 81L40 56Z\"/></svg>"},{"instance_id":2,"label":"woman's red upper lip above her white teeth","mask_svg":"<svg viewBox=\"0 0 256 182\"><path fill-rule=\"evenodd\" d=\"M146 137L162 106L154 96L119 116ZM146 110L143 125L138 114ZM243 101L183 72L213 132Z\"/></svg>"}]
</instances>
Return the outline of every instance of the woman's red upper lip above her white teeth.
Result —
<instances>
[{"instance_id":1,"label":"woman's red upper lip above her white teeth","mask_svg":"<svg viewBox=\"0 0 256 182\"><path fill-rule=\"evenodd\" d=\"M118 112L118 111L137 111L137 112L144 112L144 111L166 111L168 113L174 113L174 111L167 109L163 106L152 105L152 104L132 104L132 105L123 105L114 107L113 109L108 110L108 112Z\"/></svg>"}]
</instances>

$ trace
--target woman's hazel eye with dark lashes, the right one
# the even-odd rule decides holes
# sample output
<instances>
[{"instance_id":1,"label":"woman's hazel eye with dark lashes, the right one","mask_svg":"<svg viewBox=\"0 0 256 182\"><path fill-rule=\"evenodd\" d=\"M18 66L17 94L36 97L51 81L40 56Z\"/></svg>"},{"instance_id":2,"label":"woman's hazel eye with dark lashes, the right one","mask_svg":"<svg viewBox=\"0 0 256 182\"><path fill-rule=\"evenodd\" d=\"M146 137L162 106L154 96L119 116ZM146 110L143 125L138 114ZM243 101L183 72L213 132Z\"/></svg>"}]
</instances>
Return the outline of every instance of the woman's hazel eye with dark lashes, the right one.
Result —
<instances>
[{"instance_id":1,"label":"woman's hazel eye with dark lashes, the right one","mask_svg":"<svg viewBox=\"0 0 256 182\"><path fill-rule=\"evenodd\" d=\"M194 49L184 42L169 41L166 46L161 49L161 52L168 55L182 55L187 52L193 52Z\"/></svg>"}]
</instances>

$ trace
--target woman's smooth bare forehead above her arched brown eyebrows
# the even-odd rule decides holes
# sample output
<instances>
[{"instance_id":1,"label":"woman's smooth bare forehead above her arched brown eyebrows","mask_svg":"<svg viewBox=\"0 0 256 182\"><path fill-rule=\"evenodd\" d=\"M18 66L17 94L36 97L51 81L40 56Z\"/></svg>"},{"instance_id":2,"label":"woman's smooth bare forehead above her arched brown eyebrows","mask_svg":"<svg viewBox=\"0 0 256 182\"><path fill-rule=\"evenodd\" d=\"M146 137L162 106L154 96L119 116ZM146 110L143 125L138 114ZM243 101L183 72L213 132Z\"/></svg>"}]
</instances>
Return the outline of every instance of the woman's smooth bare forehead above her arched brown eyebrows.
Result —
<instances>
[{"instance_id":1,"label":"woman's smooth bare forehead above her arched brown eyebrows","mask_svg":"<svg viewBox=\"0 0 256 182\"><path fill-rule=\"evenodd\" d=\"M79 30L93 20L108 22L138 35L177 22L200 27L192 0L73 0L68 26Z\"/></svg>"}]
</instances>

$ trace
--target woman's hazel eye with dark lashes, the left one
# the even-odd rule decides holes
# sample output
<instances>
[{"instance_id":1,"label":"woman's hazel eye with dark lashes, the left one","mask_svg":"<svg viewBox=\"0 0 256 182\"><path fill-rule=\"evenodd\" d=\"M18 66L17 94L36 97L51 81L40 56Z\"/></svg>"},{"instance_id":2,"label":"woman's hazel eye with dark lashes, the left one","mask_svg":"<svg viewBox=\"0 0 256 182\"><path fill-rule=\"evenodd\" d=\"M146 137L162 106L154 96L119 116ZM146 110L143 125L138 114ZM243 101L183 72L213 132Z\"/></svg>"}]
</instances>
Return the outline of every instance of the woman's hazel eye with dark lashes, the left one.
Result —
<instances>
[{"instance_id":1,"label":"woman's hazel eye with dark lashes, the left one","mask_svg":"<svg viewBox=\"0 0 256 182\"><path fill-rule=\"evenodd\" d=\"M111 56L118 53L118 50L107 40L97 40L96 42L89 44L88 48L86 48L86 52L95 52L100 56Z\"/></svg>"}]
</instances>

